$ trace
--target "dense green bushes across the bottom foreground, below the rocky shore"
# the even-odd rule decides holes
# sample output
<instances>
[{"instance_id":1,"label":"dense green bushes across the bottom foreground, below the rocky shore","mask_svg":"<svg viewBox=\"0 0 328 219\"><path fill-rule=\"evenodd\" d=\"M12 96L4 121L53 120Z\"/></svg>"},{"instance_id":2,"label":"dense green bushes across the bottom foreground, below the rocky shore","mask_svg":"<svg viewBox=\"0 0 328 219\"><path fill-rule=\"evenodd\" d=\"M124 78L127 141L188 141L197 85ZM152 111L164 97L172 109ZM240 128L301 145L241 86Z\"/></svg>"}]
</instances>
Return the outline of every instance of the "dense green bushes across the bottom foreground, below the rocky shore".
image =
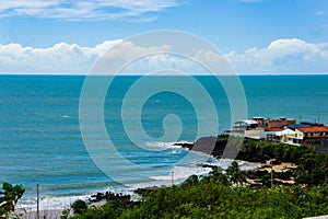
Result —
<instances>
[{"instance_id":1,"label":"dense green bushes across the bottom foreground, below the rocky shore","mask_svg":"<svg viewBox=\"0 0 328 219\"><path fill-rule=\"evenodd\" d=\"M230 178L230 180L229 180ZM134 208L110 200L73 218L304 218L328 214L327 187L231 186L231 175L212 171L198 180L147 193Z\"/></svg>"}]
</instances>

